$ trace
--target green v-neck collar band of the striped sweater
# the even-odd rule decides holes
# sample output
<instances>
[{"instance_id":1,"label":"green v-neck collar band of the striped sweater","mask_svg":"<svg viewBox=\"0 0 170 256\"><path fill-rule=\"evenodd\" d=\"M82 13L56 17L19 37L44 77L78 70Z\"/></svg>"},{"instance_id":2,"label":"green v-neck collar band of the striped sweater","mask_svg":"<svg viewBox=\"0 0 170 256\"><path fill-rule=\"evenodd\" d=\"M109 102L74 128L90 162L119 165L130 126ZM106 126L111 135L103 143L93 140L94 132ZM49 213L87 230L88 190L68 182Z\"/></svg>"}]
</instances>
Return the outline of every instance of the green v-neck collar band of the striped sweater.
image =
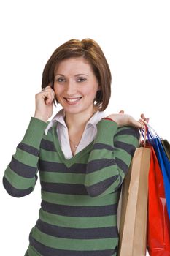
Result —
<instances>
[{"instance_id":1,"label":"green v-neck collar band of the striped sweater","mask_svg":"<svg viewBox=\"0 0 170 256\"><path fill-rule=\"evenodd\" d=\"M55 124L53 125L53 128L52 128L55 150L60 155L61 159L63 160L63 163L65 163L67 167L70 167L72 164L74 164L74 162L76 162L77 159L80 159L80 157L82 157L85 153L87 153L90 150L90 148L93 145L94 140L92 140L88 144L88 146L83 148L81 151L79 151L77 154L72 156L70 159L66 159L66 157L64 156L63 151L61 149L61 145L59 143L59 140L58 140L58 135L57 135L57 132L56 132L57 124L58 124L58 121L55 122Z\"/></svg>"}]
</instances>

